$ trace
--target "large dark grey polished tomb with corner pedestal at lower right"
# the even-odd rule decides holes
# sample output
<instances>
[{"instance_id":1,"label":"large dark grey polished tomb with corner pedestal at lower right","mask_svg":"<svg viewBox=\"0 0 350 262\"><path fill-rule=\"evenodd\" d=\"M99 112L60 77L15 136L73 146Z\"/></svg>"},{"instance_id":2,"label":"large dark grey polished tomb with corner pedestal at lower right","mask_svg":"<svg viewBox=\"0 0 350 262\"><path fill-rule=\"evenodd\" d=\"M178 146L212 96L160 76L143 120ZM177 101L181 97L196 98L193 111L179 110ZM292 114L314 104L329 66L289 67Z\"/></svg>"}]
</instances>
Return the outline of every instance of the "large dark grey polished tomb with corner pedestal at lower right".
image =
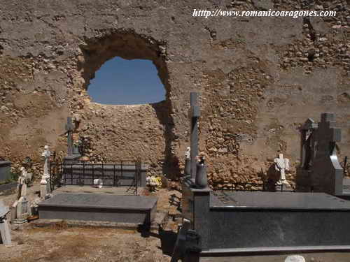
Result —
<instances>
[{"instance_id":1,"label":"large dark grey polished tomb with corner pedestal at lower right","mask_svg":"<svg viewBox=\"0 0 350 262\"><path fill-rule=\"evenodd\" d=\"M183 180L202 254L350 250L350 202L324 193L211 191Z\"/></svg>"}]
</instances>

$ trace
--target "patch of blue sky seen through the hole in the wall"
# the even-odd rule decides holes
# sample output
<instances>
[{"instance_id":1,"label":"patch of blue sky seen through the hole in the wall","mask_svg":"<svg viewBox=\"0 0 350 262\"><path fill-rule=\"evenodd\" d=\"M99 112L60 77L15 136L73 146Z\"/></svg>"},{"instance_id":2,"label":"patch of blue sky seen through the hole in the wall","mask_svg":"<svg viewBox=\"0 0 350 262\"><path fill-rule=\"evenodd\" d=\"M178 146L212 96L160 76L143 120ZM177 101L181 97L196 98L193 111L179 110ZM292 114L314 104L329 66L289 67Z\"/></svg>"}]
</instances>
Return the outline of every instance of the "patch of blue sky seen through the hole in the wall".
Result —
<instances>
[{"instance_id":1,"label":"patch of blue sky seen through the hole in the wall","mask_svg":"<svg viewBox=\"0 0 350 262\"><path fill-rule=\"evenodd\" d=\"M165 100L165 87L151 60L114 57L90 80L87 92L93 102L109 105L155 103Z\"/></svg>"}]
</instances>

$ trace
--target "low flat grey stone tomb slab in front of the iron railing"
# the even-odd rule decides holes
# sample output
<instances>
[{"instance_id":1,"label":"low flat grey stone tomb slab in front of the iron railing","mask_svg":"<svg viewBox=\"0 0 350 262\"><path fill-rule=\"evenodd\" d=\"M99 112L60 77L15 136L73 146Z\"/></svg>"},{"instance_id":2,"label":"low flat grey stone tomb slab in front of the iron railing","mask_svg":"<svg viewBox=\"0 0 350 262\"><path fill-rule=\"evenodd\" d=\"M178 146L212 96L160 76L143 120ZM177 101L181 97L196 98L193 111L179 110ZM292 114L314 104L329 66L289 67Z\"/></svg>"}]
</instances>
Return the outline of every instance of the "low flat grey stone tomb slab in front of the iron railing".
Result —
<instances>
[{"instance_id":1,"label":"low flat grey stone tomb slab in front of the iron railing","mask_svg":"<svg viewBox=\"0 0 350 262\"><path fill-rule=\"evenodd\" d=\"M57 194L38 204L40 219L151 224L158 198L112 194Z\"/></svg>"}]
</instances>

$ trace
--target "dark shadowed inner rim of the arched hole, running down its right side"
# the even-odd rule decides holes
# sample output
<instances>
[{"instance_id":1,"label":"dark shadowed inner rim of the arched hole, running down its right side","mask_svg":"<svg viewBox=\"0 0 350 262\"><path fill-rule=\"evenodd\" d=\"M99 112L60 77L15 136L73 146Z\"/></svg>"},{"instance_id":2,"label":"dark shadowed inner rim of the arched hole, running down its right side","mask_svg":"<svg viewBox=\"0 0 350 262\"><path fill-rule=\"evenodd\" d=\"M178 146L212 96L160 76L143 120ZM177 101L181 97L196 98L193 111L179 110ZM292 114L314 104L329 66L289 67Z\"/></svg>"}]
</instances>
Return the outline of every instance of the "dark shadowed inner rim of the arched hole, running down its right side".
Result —
<instances>
[{"instance_id":1,"label":"dark shadowed inner rim of the arched hole, running down its right side","mask_svg":"<svg viewBox=\"0 0 350 262\"><path fill-rule=\"evenodd\" d=\"M151 163L151 167L157 165L161 166L163 174L169 176L179 174L179 159L174 155L174 149L172 148L174 146L173 143L175 136L173 130L174 122L172 119L172 103L169 99L171 87L168 81L169 73L167 70L167 64L165 63L165 43L159 43L152 38L139 36L134 32L123 31L113 32L104 37L87 39L85 40L84 45L80 45L80 48L84 57L80 60L79 66L80 72L85 80L81 88L87 91L92 88L90 83L94 81L99 68L102 68L104 63L108 63L108 61L111 61L114 57L127 59L128 61L132 61L133 59L148 60L157 68L158 77L163 88L165 88L165 99L158 103L150 103L150 105L155 111L159 123L163 126L162 139L165 139L165 148L162 149L163 159L158 159L157 163ZM134 104L137 103L139 102L135 102ZM121 105L109 106L118 107ZM71 111L74 113L78 110L71 108ZM152 147L152 145L150 145L150 147Z\"/></svg>"}]
</instances>

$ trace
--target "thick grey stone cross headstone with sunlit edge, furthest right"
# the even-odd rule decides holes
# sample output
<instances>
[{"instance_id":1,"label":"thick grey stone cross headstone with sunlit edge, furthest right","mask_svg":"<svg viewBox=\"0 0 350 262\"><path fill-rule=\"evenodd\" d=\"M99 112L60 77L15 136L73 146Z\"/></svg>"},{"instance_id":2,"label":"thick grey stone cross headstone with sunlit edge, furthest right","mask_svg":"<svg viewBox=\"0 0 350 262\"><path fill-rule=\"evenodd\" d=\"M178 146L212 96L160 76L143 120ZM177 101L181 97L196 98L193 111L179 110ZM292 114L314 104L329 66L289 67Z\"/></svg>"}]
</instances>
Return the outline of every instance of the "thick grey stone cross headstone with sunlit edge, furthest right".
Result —
<instances>
[{"instance_id":1,"label":"thick grey stone cross headstone with sunlit edge, furthest right","mask_svg":"<svg viewBox=\"0 0 350 262\"><path fill-rule=\"evenodd\" d=\"M341 129L335 127L334 114L322 113L316 130L316 155L311 166L311 184L315 192L342 194L343 168L335 147L340 140Z\"/></svg>"}]
</instances>

